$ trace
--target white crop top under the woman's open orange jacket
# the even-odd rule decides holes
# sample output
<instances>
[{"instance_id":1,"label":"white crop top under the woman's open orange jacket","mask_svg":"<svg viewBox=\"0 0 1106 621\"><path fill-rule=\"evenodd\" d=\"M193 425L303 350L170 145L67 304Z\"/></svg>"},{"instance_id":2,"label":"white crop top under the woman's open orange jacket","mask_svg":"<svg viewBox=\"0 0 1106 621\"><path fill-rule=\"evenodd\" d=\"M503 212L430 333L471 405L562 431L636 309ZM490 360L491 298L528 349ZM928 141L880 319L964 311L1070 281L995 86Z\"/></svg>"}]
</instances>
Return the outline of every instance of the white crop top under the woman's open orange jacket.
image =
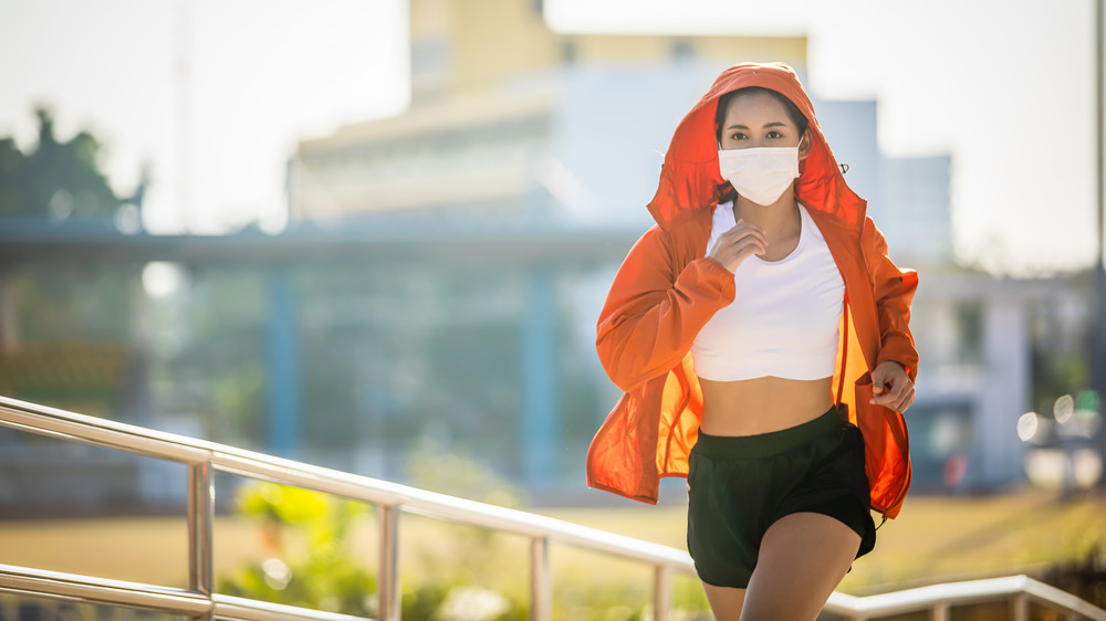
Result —
<instances>
[{"instance_id":1,"label":"white crop top under the woman's open orange jacket","mask_svg":"<svg viewBox=\"0 0 1106 621\"><path fill-rule=\"evenodd\" d=\"M750 256L733 282L734 301L714 313L691 346L696 375L732 381L833 376L845 284L810 213L799 206L799 245L780 261ZM707 252L732 229L733 203L714 210Z\"/></svg>"}]
</instances>

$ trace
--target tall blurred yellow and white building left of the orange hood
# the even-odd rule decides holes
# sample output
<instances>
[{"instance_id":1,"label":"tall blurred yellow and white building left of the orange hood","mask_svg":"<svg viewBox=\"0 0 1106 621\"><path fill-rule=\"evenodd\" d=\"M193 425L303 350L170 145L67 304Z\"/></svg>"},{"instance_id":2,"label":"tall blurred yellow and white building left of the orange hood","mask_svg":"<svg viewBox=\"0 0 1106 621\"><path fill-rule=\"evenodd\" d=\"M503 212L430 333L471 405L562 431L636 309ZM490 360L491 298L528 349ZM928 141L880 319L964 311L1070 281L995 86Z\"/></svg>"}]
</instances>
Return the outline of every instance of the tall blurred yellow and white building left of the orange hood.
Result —
<instances>
[{"instance_id":1,"label":"tall blurred yellow and white building left of the orange hood","mask_svg":"<svg viewBox=\"0 0 1106 621\"><path fill-rule=\"evenodd\" d=\"M520 0L414 0L410 13L410 109L302 141L293 218L476 209L641 224L703 85L733 59L801 70L806 56L802 38L563 35Z\"/></svg>"}]
</instances>

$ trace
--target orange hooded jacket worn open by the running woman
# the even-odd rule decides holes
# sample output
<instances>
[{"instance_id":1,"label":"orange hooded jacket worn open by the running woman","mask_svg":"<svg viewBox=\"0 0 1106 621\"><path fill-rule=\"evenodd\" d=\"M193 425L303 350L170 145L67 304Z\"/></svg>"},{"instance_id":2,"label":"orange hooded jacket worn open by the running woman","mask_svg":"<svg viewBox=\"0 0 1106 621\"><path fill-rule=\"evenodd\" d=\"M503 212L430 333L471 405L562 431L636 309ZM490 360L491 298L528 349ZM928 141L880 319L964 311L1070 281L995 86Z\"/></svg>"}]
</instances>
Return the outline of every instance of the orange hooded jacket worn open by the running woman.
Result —
<instances>
[{"instance_id":1,"label":"orange hooded jacket worn open by the running woman","mask_svg":"<svg viewBox=\"0 0 1106 621\"><path fill-rule=\"evenodd\" d=\"M845 185L810 97L782 63L726 70L672 136L649 202L657 224L629 251L598 322L599 360L625 394L588 449L587 484L656 504L661 476L687 476L702 412L691 343L737 293L733 274L707 256L714 207L730 189L718 168L714 112L720 95L748 86L783 94L810 119L813 147L800 165L795 198L825 236L845 282L834 397L864 435L872 507L895 517L910 486L906 421L868 402L869 372L894 360L916 379L908 324L918 277L888 259L867 202Z\"/></svg>"}]
</instances>

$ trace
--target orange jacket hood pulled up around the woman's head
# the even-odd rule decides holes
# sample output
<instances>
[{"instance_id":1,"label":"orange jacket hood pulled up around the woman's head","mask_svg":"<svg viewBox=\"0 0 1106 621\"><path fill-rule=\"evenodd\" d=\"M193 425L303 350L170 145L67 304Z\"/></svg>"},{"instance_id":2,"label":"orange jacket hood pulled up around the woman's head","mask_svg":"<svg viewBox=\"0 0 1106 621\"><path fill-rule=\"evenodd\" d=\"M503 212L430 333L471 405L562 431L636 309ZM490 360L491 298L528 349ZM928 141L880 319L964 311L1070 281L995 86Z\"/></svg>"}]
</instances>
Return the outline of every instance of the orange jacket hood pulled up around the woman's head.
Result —
<instances>
[{"instance_id":1,"label":"orange jacket hood pulled up around the woman's head","mask_svg":"<svg viewBox=\"0 0 1106 621\"><path fill-rule=\"evenodd\" d=\"M835 215L846 224L863 222L867 203L845 183L795 71L783 63L741 63L723 71L676 128L665 154L660 185L649 201L649 212L660 228L668 230L700 209L717 206L729 190L718 169L714 113L720 96L749 86L782 94L810 120L812 148L800 162L795 198L807 209Z\"/></svg>"}]
</instances>

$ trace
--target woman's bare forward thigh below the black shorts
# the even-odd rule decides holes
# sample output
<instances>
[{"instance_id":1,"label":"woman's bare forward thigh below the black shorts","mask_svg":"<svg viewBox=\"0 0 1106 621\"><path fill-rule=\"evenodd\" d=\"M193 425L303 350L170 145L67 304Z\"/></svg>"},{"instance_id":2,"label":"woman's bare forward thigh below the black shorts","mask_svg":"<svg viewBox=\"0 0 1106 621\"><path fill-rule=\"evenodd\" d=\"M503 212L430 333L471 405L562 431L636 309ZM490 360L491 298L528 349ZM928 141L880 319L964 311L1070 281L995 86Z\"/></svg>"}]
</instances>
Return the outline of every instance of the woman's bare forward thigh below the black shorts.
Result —
<instances>
[{"instance_id":1,"label":"woman's bare forward thigh below the black shorts","mask_svg":"<svg viewBox=\"0 0 1106 621\"><path fill-rule=\"evenodd\" d=\"M780 518L761 540L742 621L817 618L859 546L856 531L827 515L793 513Z\"/></svg>"}]
</instances>

